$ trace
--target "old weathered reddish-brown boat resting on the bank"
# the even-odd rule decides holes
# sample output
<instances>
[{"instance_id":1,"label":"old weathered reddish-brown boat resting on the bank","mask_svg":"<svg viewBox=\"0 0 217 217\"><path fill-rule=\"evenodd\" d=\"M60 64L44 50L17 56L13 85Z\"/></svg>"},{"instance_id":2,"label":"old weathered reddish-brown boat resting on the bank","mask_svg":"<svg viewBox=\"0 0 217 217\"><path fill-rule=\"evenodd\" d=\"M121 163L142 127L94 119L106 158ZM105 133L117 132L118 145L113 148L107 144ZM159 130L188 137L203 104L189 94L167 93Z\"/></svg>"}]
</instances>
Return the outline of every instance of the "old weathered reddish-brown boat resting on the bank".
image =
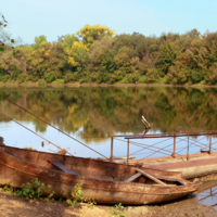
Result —
<instances>
[{"instance_id":1,"label":"old weathered reddish-brown boat resting on the bank","mask_svg":"<svg viewBox=\"0 0 217 217\"><path fill-rule=\"evenodd\" d=\"M55 197L82 183L82 196L107 204L156 204L186 196L200 187L181 173L0 145L0 182L21 187L36 177ZM49 191L47 192L50 193Z\"/></svg>"}]
</instances>

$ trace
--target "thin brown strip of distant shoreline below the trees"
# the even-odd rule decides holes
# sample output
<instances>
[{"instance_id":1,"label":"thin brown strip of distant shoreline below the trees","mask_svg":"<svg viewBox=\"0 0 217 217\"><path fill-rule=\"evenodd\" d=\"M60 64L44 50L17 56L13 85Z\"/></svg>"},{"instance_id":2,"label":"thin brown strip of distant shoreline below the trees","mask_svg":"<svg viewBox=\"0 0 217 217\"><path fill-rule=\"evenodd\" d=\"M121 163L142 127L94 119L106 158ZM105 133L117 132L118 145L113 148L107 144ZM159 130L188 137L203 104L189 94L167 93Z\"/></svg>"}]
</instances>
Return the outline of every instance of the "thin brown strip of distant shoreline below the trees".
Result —
<instances>
[{"instance_id":1,"label":"thin brown strip of distant shoreline below the trees","mask_svg":"<svg viewBox=\"0 0 217 217\"><path fill-rule=\"evenodd\" d=\"M0 87L165 87L165 88L217 88L217 85L167 85L167 84L0 84Z\"/></svg>"}]
</instances>

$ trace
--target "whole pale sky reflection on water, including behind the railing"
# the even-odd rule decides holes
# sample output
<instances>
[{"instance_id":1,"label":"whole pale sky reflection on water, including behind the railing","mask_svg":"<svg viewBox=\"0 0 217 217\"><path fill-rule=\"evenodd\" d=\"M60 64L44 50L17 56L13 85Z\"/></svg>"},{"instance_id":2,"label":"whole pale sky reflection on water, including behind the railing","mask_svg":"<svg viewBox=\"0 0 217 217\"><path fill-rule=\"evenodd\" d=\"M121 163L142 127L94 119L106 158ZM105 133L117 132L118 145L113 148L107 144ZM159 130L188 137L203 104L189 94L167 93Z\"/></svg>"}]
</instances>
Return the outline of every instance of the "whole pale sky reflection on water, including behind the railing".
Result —
<instances>
[{"instance_id":1,"label":"whole pale sky reflection on water, including behind the railing","mask_svg":"<svg viewBox=\"0 0 217 217\"><path fill-rule=\"evenodd\" d=\"M27 122L21 122L25 127L35 131L35 125ZM43 141L41 138L37 137L33 132L22 128L20 125L13 122L9 123L0 123L1 136L4 138L4 143L7 145L16 146L16 148L33 148L38 151L52 152L56 151L56 148L48 142L44 142L44 146L41 146L41 142ZM78 136L79 130L76 133L71 133L75 139L82 141L80 136ZM153 133L150 131L149 133ZM155 131L155 133L158 133ZM51 142L60 145L62 149L66 149L69 153L76 156L82 157L100 157L99 154L89 150L88 148L77 143L73 139L63 135L62 132L53 129L48 126L46 132L38 132L38 135L44 137ZM119 135L116 132L116 135ZM132 135L128 132L127 135ZM186 139L186 140L184 140ZM199 137L200 143L195 143L190 139L190 153L200 152L202 149L202 144L206 144L206 149L208 149L209 140L207 137ZM216 141L215 138L212 140ZM176 140L176 153L177 154L187 154L187 138L177 138ZM107 138L105 140L101 140L99 142L89 142L88 146L94 149L105 156L110 156L111 154L111 139ZM217 143L215 144L215 148ZM166 149L164 149L166 148ZM130 154L136 156L137 158L142 157L157 157L157 156L168 156L171 154L174 149L174 138L159 138L159 139L135 139L132 143L130 143ZM155 153L156 152L156 153ZM127 155L127 140L124 138L114 139L114 156L126 156Z\"/></svg>"}]
</instances>

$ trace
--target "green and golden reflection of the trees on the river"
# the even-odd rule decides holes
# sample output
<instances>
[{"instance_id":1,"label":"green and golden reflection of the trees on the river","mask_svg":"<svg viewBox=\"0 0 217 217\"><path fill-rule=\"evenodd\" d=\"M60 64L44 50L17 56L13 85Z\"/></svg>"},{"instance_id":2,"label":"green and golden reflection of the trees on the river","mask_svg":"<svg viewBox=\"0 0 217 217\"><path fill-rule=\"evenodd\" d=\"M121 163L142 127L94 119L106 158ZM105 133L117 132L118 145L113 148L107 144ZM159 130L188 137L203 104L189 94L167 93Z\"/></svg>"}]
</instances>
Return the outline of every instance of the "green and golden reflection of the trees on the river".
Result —
<instances>
[{"instance_id":1,"label":"green and golden reflection of the trees on the river","mask_svg":"<svg viewBox=\"0 0 217 217\"><path fill-rule=\"evenodd\" d=\"M154 131L217 129L216 92L192 88L7 89L15 103L87 141L117 131L142 133L141 115L152 123ZM46 124L8 101L1 100L0 106L20 122L33 122L37 131L47 130Z\"/></svg>"}]
</instances>

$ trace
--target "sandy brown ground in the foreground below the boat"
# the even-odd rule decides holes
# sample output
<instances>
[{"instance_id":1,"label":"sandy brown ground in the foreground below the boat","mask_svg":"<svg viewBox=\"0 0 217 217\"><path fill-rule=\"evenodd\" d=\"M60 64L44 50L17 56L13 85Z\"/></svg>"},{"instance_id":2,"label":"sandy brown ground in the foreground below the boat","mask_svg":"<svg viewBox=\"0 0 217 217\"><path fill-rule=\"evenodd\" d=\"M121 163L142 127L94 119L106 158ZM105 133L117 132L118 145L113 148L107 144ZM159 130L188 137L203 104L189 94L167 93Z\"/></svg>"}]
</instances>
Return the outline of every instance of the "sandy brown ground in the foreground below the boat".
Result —
<instances>
[{"instance_id":1,"label":"sandy brown ground in the foreground below the boat","mask_svg":"<svg viewBox=\"0 0 217 217\"><path fill-rule=\"evenodd\" d=\"M197 203L197 197L191 195L180 201L155 206L125 206L125 217L217 217L217 212ZM79 208L71 208L65 202L33 202L24 201L0 191L0 217L112 217L107 205L95 205L93 208L82 203Z\"/></svg>"}]
</instances>

